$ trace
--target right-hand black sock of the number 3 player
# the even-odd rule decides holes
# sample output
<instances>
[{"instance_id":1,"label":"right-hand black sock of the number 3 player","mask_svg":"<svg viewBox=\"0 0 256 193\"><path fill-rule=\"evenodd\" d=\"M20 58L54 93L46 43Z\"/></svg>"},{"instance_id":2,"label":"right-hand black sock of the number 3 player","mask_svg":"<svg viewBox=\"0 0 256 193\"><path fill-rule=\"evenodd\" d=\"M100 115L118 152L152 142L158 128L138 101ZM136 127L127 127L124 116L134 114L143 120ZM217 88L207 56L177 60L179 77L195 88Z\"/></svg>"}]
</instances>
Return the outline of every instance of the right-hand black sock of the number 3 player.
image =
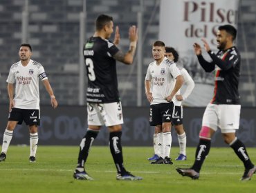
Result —
<instances>
[{"instance_id":1,"label":"right-hand black sock of the number 3 player","mask_svg":"<svg viewBox=\"0 0 256 193\"><path fill-rule=\"evenodd\" d=\"M118 173L126 172L122 159L121 135L122 132L109 133L109 148Z\"/></svg>"}]
</instances>

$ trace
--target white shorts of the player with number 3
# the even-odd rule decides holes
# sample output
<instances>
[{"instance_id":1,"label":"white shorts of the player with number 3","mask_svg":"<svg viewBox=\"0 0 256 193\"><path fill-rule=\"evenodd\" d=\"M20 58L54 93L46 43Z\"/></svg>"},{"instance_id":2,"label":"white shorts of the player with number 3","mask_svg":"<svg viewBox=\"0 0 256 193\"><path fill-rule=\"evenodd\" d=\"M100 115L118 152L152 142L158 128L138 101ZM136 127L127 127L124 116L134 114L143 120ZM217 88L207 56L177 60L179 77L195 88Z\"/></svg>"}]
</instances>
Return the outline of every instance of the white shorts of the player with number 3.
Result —
<instances>
[{"instance_id":1,"label":"white shorts of the player with number 3","mask_svg":"<svg viewBox=\"0 0 256 193\"><path fill-rule=\"evenodd\" d=\"M122 119L122 104L115 103L87 103L88 125L120 125Z\"/></svg>"}]
</instances>

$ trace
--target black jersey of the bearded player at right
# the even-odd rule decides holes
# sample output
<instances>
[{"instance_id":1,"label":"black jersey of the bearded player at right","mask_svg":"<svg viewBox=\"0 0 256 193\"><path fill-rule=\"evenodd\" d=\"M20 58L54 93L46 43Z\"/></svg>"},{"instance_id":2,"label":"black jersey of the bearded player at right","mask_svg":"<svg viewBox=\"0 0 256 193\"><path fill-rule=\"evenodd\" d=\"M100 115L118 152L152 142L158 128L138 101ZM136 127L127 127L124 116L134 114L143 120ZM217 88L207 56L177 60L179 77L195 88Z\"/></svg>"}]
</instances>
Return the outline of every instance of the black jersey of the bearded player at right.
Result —
<instances>
[{"instance_id":1,"label":"black jersey of the bearded player at right","mask_svg":"<svg viewBox=\"0 0 256 193\"><path fill-rule=\"evenodd\" d=\"M208 52L212 62L205 61L202 55L198 56L199 63L205 72L215 70L214 96L211 103L214 104L239 104L238 92L240 76L240 54L236 47L228 50L219 50L214 54Z\"/></svg>"}]
</instances>

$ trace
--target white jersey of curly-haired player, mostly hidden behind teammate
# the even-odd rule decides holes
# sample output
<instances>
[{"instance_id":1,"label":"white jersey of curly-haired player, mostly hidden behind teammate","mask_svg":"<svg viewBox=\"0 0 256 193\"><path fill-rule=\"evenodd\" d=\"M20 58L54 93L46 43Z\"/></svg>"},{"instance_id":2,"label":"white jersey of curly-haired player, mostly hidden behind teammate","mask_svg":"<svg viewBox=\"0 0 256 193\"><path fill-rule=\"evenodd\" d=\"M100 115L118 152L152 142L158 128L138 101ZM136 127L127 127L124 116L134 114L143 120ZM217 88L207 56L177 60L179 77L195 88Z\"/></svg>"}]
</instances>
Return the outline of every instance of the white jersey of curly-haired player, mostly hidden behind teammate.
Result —
<instances>
[{"instance_id":1,"label":"white jersey of curly-haired player, mostly hidden behind teammate","mask_svg":"<svg viewBox=\"0 0 256 193\"><path fill-rule=\"evenodd\" d=\"M193 81L192 77L190 77L190 74L188 74L188 71L185 70L185 68L182 68L179 65L177 66L177 68L180 70L181 75L183 77L183 80L184 80L184 84L183 85L187 86L186 89L185 89L185 92L182 94L183 101L184 101L185 99L188 98L188 96L191 94L192 90L194 89L194 81ZM172 81L174 82L174 83L172 83L172 86L173 86L172 89L174 89L174 85L176 83L176 79L172 79ZM176 92L176 94L181 94L181 90ZM175 106L181 106L181 103L182 103L182 101L178 101L176 99L176 96L173 97L172 102L174 102Z\"/></svg>"}]
</instances>

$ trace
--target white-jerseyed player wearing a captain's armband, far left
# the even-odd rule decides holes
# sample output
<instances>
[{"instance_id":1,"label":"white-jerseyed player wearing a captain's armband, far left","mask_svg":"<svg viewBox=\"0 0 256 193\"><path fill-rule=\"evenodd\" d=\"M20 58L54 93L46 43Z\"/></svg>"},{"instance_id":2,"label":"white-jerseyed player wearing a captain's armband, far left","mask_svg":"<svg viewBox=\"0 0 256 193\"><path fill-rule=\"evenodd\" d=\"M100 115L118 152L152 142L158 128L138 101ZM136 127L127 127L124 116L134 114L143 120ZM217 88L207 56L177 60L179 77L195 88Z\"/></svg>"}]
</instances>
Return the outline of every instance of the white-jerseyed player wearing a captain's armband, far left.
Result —
<instances>
[{"instance_id":1,"label":"white-jerseyed player wearing a captain's armband, far left","mask_svg":"<svg viewBox=\"0 0 256 193\"><path fill-rule=\"evenodd\" d=\"M12 64L8 79L8 96L10 99L9 118L6 130L3 134L3 145L0 154L0 161L6 160L6 153L12 140L12 133L17 124L23 121L29 125L30 131L30 156L29 161L35 162L37 152L38 134L37 127L40 124L39 108L39 80L51 97L51 105L57 108L57 100L44 72L44 67L30 59L32 48L28 43L23 43L19 48L20 61ZM15 84L15 97L14 95Z\"/></svg>"}]
</instances>

